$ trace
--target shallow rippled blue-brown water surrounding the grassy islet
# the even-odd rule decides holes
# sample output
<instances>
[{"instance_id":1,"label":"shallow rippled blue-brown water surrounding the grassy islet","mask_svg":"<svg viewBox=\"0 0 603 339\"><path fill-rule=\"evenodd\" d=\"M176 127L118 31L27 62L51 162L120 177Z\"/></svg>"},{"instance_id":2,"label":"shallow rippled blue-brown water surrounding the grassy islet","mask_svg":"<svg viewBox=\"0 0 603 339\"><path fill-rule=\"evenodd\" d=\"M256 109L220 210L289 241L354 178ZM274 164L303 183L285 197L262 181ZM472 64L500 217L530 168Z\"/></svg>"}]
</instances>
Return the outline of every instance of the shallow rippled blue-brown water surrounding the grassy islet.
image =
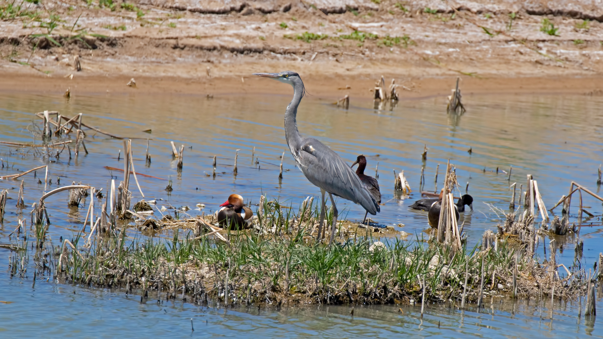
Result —
<instances>
[{"instance_id":1,"label":"shallow rippled blue-brown water surrounding the grassy islet","mask_svg":"<svg viewBox=\"0 0 603 339\"><path fill-rule=\"evenodd\" d=\"M40 124L40 119L34 117L36 112L58 110L65 116L82 112L83 122L88 125L118 136L141 138L133 140L134 159L139 160L134 162L137 173L165 179L171 176L173 180L174 191L168 195L164 190L165 180L138 177L147 200L164 199L158 206L190 206L193 209L188 213L197 215L201 211L195 211L194 206L203 203L206 204L203 212L209 213L215 211L229 194L236 192L251 203L259 201L259 195L263 193L296 207L306 196L318 195L320 191L295 168L286 146L283 113L289 101L290 97L281 96L225 96L207 100L185 95L152 97L133 93L75 96L66 102L48 95L3 93L0 97L0 141L33 142L28 128L31 129L33 123ZM323 141L350 164L358 154L365 154L368 159L366 172L371 176L379 162L379 183L385 205L373 219L410 233L409 241L417 236L427 237L423 233L428 228L426 212L408 208L420 198L421 166L425 166L424 189L433 192L435 169L439 163L438 187L441 188L447 159L456 166L459 183L463 186L455 195L464 194L464 186L469 182L469 194L475 199L474 211L461 214L470 246L481 241L484 230L495 230L500 222L486 203L507 211L510 184L523 184L525 190L526 174L532 174L538 180L547 208L551 208L562 194L567 194L572 180L599 192L596 180L603 150L603 117L599 115L603 109L601 97L467 95L465 104L469 110L462 116L447 115L444 98L400 101L391 110L389 106L383 110L374 109L369 101L352 104L357 106L350 106L346 111L333 107L330 100L305 99L298 112L300 133ZM148 129L152 130L151 134L143 132ZM122 177L121 172L104 168L123 167L122 160L118 160L122 141L92 131L89 135L94 135L86 138L90 154L84 155L82 151L77 159L69 159L65 150L59 159L52 158L55 161L49 164L52 185L46 191L57 187L57 176L60 176L61 185L81 181L104 188L104 191L112 175L114 179L115 176L117 179ZM152 162L145 167L147 138L152 139ZM176 171L169 141L174 141L178 147L185 145L182 174ZM428 159L423 163L421 153L425 144L429 150ZM9 163L8 168L2 168L1 174L45 164L39 157L34 159L31 155L15 154L14 148L0 147L3 162ZM251 159L253 147L259 164ZM467 152L469 148L472 153ZM238 174L234 176L236 150L239 150ZM283 151L285 173L279 182ZM218 156L215 179L211 176L214 155ZM513 166L510 180L502 172L508 171L509 166ZM499 168L498 174L496 168ZM411 195L394 198L392 170L405 171L413 190ZM43 173L37 174L43 176ZM22 179L25 180L25 203L31 206L43 194L44 185L39 185L38 179L31 174ZM14 242L14 236L8 239L8 234L17 226L19 215L29 219L29 208L23 211L14 208L18 185L16 180L0 181L0 189L10 189L9 196L14 199L8 200L5 221L0 225L2 244ZM140 193L133 187L135 201L140 198ZM583 199L585 208L596 217L582 220L582 223L601 224L601 201L589 195L583 195ZM46 201L52 222L48 234L55 242L59 236L71 237L81 229L77 220L83 220L86 215L86 209L83 215L81 211L68 215L66 200L65 192ZM578 211L577 201L572 200L572 221ZM338 200L338 209L343 211L340 215L349 220L361 220L364 216L360 206L343 199ZM555 212L560 214L560 208ZM603 252L599 241L601 229L599 226L581 227L582 264L586 267L591 267L598 253ZM544 257L541 245L548 244L551 239L540 239L538 255L541 258ZM558 236L556 239L560 248L558 261L572 265L575 236ZM2 254L0 267L8 267L10 252L0 249ZM408 309L410 314L405 311L405 315L401 315L393 306L357 308L353 319L348 315L349 309L342 306L329 306L329 311L317 307L273 309L260 311L259 315L254 310L235 309L225 313L224 309L197 309L178 302L160 308L153 303L140 305L137 297L126 299L119 292L87 290L42 280L32 289L32 277L11 279L7 272L0 271L3 280L0 292L5 296L4 301L13 303L0 304L0 324L3 324L0 328L7 331L19 328L24 335L34 331L33 325L40 326L36 330L39 334L57 336L96 337L102 329L106 337L115 337L131 333L132 328L136 328L141 336L190 335L189 318L194 318L194 323L208 321L207 329L198 329L192 334L197 336L276 337L295 331L300 337L362 337L374 333L379 337L399 334L410 337L585 337L589 328L601 326L598 320L593 324L582 319L578 324L576 305L565 309L562 305L555 306L555 320L550 325L548 320L541 322L535 315L535 305L518 304L513 311L510 300L502 304L495 302L493 316L484 314L483 310L481 315L466 312L462 317L465 325L460 328L460 311L443 306L429 307L421 326L416 308ZM546 308L545 312L548 312ZM19 321L14 322L14 319ZM437 328L438 320L440 329ZM8 326L13 322L18 326ZM205 326L201 323L195 326ZM596 330L592 335L596 335Z\"/></svg>"}]
</instances>

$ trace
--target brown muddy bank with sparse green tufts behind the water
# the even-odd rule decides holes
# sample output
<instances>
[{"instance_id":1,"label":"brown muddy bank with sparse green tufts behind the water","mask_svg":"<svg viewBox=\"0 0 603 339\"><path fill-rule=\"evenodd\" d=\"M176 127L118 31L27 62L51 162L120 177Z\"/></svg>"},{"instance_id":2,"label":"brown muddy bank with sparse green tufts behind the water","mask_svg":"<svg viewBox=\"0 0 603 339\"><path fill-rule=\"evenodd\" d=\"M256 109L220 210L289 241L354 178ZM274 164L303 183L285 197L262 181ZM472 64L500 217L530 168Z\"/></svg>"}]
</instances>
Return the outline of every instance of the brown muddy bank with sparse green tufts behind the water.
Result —
<instances>
[{"instance_id":1,"label":"brown muddy bank with sparse green tufts behind the water","mask_svg":"<svg viewBox=\"0 0 603 339\"><path fill-rule=\"evenodd\" d=\"M228 10L219 9L225 5ZM466 86L483 78L505 79L502 83L527 77L549 80L521 81L521 86L565 90L566 80L551 82L580 77L582 84L576 80L568 87L581 92L601 87L591 80L603 72L601 6L594 2L139 1L111 6L48 1L5 18L0 72L10 84L1 86L36 89L33 79L51 77L38 88L65 87L63 77L73 74L72 87L83 86L75 84L82 78L99 83L87 85L92 91L106 92L103 87L113 79L118 90L124 79L134 77L149 79L140 82L140 91L153 83L158 92L241 92L257 90L245 80L252 72L293 69L321 84L317 92L324 89L331 96L338 91L328 88L349 85L350 95L370 97L368 88L380 75L398 83L441 85L410 97L447 93L450 85L439 79L456 76ZM76 55L81 71L73 69ZM493 82L481 81L475 88L507 86ZM189 90L182 83L197 87ZM275 91L276 86L270 88Z\"/></svg>"}]
</instances>

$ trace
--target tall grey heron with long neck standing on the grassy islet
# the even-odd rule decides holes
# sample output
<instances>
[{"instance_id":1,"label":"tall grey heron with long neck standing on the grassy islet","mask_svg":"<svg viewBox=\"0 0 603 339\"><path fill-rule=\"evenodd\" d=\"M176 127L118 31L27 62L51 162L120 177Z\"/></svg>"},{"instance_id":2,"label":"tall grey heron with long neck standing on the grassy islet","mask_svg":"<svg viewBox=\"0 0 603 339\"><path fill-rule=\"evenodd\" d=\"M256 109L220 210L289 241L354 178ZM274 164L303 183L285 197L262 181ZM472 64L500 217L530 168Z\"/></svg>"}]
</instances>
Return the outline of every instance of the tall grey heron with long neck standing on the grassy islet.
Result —
<instances>
[{"instance_id":1,"label":"tall grey heron with long neck standing on the grassy islet","mask_svg":"<svg viewBox=\"0 0 603 339\"><path fill-rule=\"evenodd\" d=\"M285 110L285 139L301 173L312 184L320 188L318 239L324 238L323 223L326 214L325 192L329 193L333 206L333 223L329 244L335 238L338 217L333 195L360 204L368 213L376 215L379 212L379 203L375 201L370 192L364 187L352 168L337 153L322 142L314 138L302 138L297 130L297 121L295 120L297 117L297 107L305 94L305 88L300 76L291 71L254 73L254 75L278 80L293 87L293 100L291 100L291 103L289 103L289 106Z\"/></svg>"}]
</instances>

